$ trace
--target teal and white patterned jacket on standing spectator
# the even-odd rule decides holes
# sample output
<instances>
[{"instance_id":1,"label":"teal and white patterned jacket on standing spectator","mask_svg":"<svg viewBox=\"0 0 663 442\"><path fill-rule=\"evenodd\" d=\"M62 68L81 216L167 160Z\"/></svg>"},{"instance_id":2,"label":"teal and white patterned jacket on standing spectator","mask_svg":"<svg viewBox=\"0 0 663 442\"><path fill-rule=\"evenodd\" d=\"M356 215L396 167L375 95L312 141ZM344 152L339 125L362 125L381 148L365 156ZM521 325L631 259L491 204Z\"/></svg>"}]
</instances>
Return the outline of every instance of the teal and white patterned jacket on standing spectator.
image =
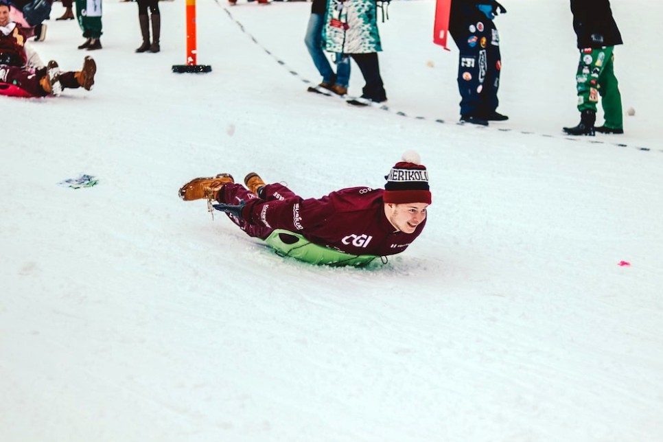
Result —
<instances>
[{"instance_id":1,"label":"teal and white patterned jacket on standing spectator","mask_svg":"<svg viewBox=\"0 0 663 442\"><path fill-rule=\"evenodd\" d=\"M328 52L369 54L382 51L375 0L329 0L323 39Z\"/></svg>"}]
</instances>

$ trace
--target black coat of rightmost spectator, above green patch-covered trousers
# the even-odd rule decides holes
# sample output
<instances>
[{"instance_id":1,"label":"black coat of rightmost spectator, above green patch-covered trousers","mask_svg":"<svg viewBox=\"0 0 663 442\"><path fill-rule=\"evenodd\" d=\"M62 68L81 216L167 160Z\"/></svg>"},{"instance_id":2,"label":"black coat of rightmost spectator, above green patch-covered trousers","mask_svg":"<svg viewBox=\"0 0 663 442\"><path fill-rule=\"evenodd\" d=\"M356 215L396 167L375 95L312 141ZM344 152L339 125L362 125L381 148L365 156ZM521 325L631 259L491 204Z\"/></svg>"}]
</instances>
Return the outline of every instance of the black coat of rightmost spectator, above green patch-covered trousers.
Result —
<instances>
[{"instance_id":1,"label":"black coat of rightmost spectator, above green patch-covered trousers","mask_svg":"<svg viewBox=\"0 0 663 442\"><path fill-rule=\"evenodd\" d=\"M623 44L617 23L612 18L609 0L571 0L571 12L578 49Z\"/></svg>"}]
</instances>

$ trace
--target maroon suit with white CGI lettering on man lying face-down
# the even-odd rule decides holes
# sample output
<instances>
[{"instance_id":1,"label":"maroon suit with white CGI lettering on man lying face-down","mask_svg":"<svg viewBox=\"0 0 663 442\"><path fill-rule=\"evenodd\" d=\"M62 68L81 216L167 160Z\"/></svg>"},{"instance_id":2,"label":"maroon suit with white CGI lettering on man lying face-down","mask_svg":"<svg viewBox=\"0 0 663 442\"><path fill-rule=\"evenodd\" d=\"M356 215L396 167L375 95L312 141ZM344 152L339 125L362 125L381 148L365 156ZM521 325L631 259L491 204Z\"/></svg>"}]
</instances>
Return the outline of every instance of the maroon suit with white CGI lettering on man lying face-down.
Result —
<instances>
[{"instance_id":1,"label":"maroon suit with white CGI lettering on man lying face-down","mask_svg":"<svg viewBox=\"0 0 663 442\"><path fill-rule=\"evenodd\" d=\"M320 246L352 255L395 255L414 241L426 225L414 233L395 231L384 215L383 189L351 187L323 198L302 199L280 184L266 185L261 198L241 185L224 185L218 200L237 204L248 201L243 220L231 219L248 235L266 238L275 229L303 235Z\"/></svg>"}]
</instances>

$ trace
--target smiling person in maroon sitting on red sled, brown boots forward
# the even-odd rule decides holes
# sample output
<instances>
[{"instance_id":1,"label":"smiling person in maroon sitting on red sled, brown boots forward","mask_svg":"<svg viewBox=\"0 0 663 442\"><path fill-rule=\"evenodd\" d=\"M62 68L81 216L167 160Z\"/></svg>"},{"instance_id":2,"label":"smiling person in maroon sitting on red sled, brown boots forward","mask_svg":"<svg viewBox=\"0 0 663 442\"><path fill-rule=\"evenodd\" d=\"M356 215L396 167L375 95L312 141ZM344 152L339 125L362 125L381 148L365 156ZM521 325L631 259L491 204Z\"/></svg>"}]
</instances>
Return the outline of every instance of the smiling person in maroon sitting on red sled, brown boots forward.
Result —
<instances>
[{"instance_id":1,"label":"smiling person in maroon sitting on red sled, brown boots forward","mask_svg":"<svg viewBox=\"0 0 663 442\"><path fill-rule=\"evenodd\" d=\"M0 95L45 97L62 89L92 89L97 71L95 60L85 57L80 71L60 72L58 63L44 66L27 43L21 25L10 20L10 5L0 0Z\"/></svg>"}]
</instances>

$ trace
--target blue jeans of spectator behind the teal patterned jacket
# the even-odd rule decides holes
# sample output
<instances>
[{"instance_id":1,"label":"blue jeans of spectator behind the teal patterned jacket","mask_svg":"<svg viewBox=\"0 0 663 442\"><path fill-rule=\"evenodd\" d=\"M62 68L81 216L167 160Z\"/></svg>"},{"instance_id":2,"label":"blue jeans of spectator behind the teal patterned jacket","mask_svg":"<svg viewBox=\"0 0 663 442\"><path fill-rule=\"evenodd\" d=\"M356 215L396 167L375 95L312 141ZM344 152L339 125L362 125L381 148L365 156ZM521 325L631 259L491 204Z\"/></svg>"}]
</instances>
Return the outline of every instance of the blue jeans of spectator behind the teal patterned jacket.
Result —
<instances>
[{"instance_id":1,"label":"blue jeans of spectator behind the teal patterned jacket","mask_svg":"<svg viewBox=\"0 0 663 442\"><path fill-rule=\"evenodd\" d=\"M329 65L329 60L323 51L323 26L325 26L325 14L311 14L304 43L316 69L323 76L323 82L347 87L350 82L350 58L345 54L336 54L336 74L334 74L332 65Z\"/></svg>"}]
</instances>

